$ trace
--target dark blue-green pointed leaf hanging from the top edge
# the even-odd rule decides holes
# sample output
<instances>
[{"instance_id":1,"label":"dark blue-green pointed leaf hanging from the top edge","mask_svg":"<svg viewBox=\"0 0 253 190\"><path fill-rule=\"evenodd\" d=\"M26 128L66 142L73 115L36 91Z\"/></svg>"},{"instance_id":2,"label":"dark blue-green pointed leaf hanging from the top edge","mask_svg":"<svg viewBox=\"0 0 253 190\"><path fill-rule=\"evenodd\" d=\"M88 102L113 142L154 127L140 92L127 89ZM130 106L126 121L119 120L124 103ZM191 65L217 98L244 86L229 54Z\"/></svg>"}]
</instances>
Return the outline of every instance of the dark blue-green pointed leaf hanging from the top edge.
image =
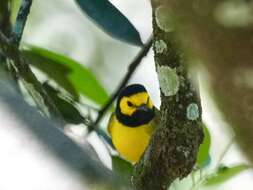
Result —
<instances>
[{"instance_id":1,"label":"dark blue-green pointed leaf hanging from the top edge","mask_svg":"<svg viewBox=\"0 0 253 190\"><path fill-rule=\"evenodd\" d=\"M80 8L106 33L119 40L142 46L133 24L108 0L76 0Z\"/></svg>"}]
</instances>

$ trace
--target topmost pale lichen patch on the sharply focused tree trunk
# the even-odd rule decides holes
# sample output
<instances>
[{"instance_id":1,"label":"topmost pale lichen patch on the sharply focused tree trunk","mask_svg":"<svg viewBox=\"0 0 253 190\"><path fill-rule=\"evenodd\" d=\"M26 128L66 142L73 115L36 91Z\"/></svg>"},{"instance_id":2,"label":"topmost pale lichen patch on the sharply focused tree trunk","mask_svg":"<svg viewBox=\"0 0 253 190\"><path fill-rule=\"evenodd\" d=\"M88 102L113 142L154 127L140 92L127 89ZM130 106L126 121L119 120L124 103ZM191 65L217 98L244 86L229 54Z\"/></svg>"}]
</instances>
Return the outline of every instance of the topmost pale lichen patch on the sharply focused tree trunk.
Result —
<instances>
[{"instance_id":1,"label":"topmost pale lichen patch on the sharply focused tree trunk","mask_svg":"<svg viewBox=\"0 0 253 190\"><path fill-rule=\"evenodd\" d=\"M161 5L156 8L155 19L157 26L164 32L171 32L174 29L174 22L167 6Z\"/></svg>"}]
</instances>

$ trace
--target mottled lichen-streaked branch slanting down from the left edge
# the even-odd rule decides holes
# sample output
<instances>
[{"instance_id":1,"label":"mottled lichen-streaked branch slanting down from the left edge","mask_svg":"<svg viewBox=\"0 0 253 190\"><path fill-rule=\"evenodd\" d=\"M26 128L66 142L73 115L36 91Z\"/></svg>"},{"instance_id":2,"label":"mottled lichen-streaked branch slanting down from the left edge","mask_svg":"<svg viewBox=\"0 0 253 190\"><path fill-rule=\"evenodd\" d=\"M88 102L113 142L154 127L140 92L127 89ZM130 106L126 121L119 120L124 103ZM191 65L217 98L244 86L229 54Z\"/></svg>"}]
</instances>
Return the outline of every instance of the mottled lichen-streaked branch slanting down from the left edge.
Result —
<instances>
[{"instance_id":1,"label":"mottled lichen-streaked branch slanting down from the left edge","mask_svg":"<svg viewBox=\"0 0 253 190\"><path fill-rule=\"evenodd\" d=\"M38 107L50 118L56 119L63 124L61 114L53 104L50 97L44 91L42 85L35 77L24 57L20 54L9 39L0 31L0 51L10 60L15 69L17 78L21 79L27 91L33 97Z\"/></svg>"}]
</instances>

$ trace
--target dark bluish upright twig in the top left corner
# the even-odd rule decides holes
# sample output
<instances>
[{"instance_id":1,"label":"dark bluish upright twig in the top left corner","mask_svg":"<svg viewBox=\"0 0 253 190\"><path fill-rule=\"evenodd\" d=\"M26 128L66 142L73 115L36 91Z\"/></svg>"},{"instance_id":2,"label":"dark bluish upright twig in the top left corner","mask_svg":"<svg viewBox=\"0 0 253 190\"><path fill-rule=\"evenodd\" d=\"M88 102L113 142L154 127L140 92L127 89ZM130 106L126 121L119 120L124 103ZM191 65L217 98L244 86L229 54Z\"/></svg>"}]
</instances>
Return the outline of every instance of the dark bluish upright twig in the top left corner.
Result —
<instances>
[{"instance_id":1,"label":"dark bluish upright twig in the top left corner","mask_svg":"<svg viewBox=\"0 0 253 190\"><path fill-rule=\"evenodd\" d=\"M17 47L20 44L20 40L23 35L25 23L27 20L27 16L30 12L31 5L32 5L32 0L23 0L19 8L16 22L12 29L11 38L10 38L11 42Z\"/></svg>"}]
</instances>

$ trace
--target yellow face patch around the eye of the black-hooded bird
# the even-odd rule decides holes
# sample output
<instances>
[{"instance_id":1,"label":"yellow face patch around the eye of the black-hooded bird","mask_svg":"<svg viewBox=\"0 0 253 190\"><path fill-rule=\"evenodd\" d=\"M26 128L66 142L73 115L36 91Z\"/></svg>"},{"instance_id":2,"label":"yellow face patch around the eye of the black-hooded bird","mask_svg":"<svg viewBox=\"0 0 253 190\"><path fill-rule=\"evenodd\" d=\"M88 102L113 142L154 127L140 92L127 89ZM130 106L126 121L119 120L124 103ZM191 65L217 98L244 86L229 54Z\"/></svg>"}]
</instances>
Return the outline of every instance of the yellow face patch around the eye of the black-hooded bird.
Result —
<instances>
[{"instance_id":1,"label":"yellow face patch around the eye of the black-hooded bird","mask_svg":"<svg viewBox=\"0 0 253 190\"><path fill-rule=\"evenodd\" d=\"M131 102L133 106L129 106L128 102ZM129 97L124 96L121 98L119 106L121 113L131 116L136 111L136 107L143 104L147 104L151 109L153 108L153 103L147 92L136 93Z\"/></svg>"}]
</instances>

